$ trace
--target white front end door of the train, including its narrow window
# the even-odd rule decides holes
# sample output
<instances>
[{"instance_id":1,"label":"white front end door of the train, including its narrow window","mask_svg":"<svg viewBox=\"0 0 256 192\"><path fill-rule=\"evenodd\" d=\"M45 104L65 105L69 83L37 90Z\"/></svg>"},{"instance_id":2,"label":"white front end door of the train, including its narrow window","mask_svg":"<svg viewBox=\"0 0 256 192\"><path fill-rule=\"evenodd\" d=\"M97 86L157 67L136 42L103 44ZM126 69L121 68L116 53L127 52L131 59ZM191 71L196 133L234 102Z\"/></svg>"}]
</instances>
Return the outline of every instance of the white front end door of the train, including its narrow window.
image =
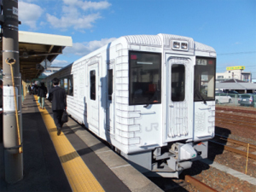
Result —
<instances>
[{"instance_id":1,"label":"white front end door of the train, including its narrow window","mask_svg":"<svg viewBox=\"0 0 256 192\"><path fill-rule=\"evenodd\" d=\"M189 121L193 115L193 79L190 75L193 65L190 59L179 57L169 57L166 63L166 140L177 140L177 137L182 140L189 137L189 128L193 127Z\"/></svg>"}]
</instances>

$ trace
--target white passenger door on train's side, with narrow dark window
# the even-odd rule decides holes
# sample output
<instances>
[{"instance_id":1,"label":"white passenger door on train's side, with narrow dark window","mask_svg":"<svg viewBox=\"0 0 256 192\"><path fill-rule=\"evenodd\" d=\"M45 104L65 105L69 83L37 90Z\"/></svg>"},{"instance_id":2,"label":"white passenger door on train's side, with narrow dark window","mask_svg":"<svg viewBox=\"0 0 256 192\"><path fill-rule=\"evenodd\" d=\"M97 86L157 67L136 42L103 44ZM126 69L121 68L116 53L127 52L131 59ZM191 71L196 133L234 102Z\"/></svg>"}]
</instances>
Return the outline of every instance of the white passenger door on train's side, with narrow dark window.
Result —
<instances>
[{"instance_id":1,"label":"white passenger door on train's side, with narrow dark window","mask_svg":"<svg viewBox=\"0 0 256 192\"><path fill-rule=\"evenodd\" d=\"M98 63L88 67L89 77L89 102L88 102L88 124L91 131L99 134L99 73Z\"/></svg>"}]
</instances>

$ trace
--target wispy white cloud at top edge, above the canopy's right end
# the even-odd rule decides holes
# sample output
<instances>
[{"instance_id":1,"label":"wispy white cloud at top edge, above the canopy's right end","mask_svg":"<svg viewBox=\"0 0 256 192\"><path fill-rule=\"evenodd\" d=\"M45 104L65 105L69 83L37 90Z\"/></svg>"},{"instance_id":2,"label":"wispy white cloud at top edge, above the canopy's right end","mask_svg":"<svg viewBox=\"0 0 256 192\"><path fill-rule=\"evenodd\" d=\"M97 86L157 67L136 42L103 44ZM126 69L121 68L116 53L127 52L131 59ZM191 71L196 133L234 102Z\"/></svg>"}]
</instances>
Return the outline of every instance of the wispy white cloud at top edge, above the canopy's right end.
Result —
<instances>
[{"instance_id":1,"label":"wispy white cloud at top edge, above the canopy's right end","mask_svg":"<svg viewBox=\"0 0 256 192\"><path fill-rule=\"evenodd\" d=\"M46 15L46 19L51 26L66 30L73 27L75 30L89 29L96 20L102 18L99 12L86 14L85 10L108 9L111 5L107 1L103 2L83 2L79 0L63 0L62 13L60 17Z\"/></svg>"}]
</instances>

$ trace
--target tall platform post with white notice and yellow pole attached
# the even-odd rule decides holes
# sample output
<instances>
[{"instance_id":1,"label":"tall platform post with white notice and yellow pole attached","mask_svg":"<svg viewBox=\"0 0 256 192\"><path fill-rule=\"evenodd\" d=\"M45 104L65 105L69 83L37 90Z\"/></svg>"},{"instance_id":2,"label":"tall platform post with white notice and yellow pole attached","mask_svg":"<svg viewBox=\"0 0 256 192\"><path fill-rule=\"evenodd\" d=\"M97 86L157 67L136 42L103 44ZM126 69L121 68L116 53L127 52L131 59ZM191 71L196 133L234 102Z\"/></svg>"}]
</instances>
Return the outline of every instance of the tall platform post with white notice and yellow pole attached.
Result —
<instances>
[{"instance_id":1,"label":"tall platform post with white notice and yellow pole attached","mask_svg":"<svg viewBox=\"0 0 256 192\"><path fill-rule=\"evenodd\" d=\"M3 0L3 147L5 180L23 178L18 0Z\"/></svg>"}]
</instances>

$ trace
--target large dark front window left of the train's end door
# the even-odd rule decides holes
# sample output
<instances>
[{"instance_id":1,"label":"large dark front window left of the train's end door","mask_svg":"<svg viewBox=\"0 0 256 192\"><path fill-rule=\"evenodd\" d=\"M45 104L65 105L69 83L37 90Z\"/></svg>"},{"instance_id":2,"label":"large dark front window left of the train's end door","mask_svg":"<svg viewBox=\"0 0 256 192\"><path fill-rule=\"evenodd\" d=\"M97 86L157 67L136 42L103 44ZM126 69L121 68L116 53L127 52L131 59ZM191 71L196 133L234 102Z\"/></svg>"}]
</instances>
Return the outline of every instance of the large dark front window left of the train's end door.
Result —
<instances>
[{"instance_id":1,"label":"large dark front window left of the train's end door","mask_svg":"<svg viewBox=\"0 0 256 192\"><path fill-rule=\"evenodd\" d=\"M161 102L161 54L129 52L129 104Z\"/></svg>"}]
</instances>

